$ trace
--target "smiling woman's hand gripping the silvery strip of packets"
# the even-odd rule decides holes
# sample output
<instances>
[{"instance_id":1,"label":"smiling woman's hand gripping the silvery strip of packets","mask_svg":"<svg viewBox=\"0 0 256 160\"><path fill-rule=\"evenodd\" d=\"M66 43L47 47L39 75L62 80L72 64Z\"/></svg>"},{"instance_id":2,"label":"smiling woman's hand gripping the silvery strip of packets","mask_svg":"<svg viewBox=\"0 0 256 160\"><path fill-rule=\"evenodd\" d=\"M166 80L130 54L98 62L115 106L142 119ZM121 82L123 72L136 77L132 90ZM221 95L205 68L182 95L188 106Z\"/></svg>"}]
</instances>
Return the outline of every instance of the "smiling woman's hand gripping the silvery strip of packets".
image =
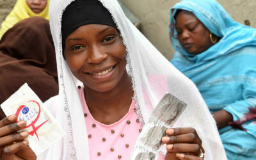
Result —
<instances>
[{"instance_id":1,"label":"smiling woman's hand gripping the silvery strip of packets","mask_svg":"<svg viewBox=\"0 0 256 160\"><path fill-rule=\"evenodd\" d=\"M186 159L201 160L200 157L204 148L202 140L199 138L196 130L193 128L173 128L166 130L167 136L162 138L166 144L166 160L169 159Z\"/></svg>"}]
</instances>

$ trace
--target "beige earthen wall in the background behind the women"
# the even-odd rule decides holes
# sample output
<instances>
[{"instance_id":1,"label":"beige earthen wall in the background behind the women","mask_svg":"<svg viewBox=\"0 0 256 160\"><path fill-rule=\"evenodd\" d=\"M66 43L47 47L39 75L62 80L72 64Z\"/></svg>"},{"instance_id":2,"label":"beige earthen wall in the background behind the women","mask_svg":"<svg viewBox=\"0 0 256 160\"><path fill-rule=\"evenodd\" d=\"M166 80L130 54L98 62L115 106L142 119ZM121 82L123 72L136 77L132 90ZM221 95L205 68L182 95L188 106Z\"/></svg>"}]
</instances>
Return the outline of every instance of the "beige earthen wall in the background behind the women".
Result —
<instances>
[{"instance_id":1,"label":"beige earthen wall in the background behind the women","mask_svg":"<svg viewBox=\"0 0 256 160\"><path fill-rule=\"evenodd\" d=\"M170 7L179 0L120 0L141 21L141 32L170 60L174 50L168 35ZM218 0L238 22L250 20L256 28L255 0ZM12 10L16 0L0 0L0 24Z\"/></svg>"}]
</instances>

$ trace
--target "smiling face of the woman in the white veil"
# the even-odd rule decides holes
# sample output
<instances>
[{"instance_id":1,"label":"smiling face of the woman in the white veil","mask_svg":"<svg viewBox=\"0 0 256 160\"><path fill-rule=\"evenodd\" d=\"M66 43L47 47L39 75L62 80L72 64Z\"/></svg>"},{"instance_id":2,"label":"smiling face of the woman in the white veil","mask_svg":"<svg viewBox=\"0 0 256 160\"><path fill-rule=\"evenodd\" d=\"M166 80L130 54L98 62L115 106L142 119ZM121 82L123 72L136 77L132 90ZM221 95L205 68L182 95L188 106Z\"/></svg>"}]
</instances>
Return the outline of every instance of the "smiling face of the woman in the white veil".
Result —
<instances>
[{"instance_id":1,"label":"smiling face of the woman in the white veil","mask_svg":"<svg viewBox=\"0 0 256 160\"><path fill-rule=\"evenodd\" d=\"M68 35L65 58L74 76L97 92L112 90L124 76L126 51L111 26L88 24Z\"/></svg>"}]
</instances>

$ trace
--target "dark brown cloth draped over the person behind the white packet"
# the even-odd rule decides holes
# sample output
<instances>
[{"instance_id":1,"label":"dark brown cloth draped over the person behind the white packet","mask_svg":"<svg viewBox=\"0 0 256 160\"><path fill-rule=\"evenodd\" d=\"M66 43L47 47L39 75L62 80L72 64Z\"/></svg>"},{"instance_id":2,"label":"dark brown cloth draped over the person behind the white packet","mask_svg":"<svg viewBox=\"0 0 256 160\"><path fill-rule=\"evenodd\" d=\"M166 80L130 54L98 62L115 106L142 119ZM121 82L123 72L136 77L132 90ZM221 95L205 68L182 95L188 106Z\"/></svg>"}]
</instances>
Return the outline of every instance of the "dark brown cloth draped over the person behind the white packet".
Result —
<instances>
[{"instance_id":1,"label":"dark brown cloth draped over the person behind the white packet","mask_svg":"<svg viewBox=\"0 0 256 160\"><path fill-rule=\"evenodd\" d=\"M0 41L0 104L24 83L44 102L58 94L58 74L49 20L24 19ZM1 109L0 109L1 110ZM0 111L0 119L3 118Z\"/></svg>"}]
</instances>

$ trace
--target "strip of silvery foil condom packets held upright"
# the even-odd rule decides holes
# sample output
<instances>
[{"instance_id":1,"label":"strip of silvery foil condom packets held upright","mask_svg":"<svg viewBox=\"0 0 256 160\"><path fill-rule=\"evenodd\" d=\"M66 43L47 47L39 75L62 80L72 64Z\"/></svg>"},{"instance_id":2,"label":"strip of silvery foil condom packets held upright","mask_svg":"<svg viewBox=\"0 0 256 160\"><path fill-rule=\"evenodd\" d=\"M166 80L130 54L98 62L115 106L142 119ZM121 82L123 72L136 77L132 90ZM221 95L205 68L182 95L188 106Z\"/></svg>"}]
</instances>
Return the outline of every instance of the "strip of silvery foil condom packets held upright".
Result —
<instances>
[{"instance_id":1,"label":"strip of silvery foil condom packets held upright","mask_svg":"<svg viewBox=\"0 0 256 160\"><path fill-rule=\"evenodd\" d=\"M187 104L182 100L166 93L144 125L129 159L158 159L159 152L163 147L161 139L166 135L166 129L172 128L186 106Z\"/></svg>"}]
</instances>

